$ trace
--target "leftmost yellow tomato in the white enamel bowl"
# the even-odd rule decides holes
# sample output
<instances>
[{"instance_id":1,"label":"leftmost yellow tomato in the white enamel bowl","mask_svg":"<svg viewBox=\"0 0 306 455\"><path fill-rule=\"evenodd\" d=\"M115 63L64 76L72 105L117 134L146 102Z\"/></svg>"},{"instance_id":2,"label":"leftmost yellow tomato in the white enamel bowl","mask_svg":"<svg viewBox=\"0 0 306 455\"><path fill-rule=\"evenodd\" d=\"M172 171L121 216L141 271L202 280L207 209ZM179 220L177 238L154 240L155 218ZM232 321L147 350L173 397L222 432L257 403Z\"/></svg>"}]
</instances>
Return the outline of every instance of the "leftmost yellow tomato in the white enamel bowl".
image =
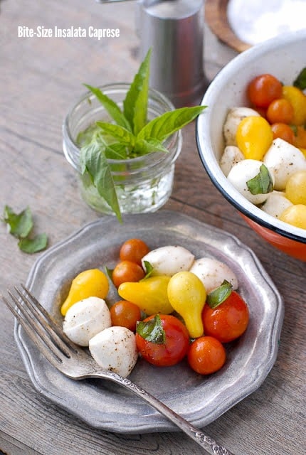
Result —
<instances>
[{"instance_id":1,"label":"leftmost yellow tomato in the white enamel bowl","mask_svg":"<svg viewBox=\"0 0 306 455\"><path fill-rule=\"evenodd\" d=\"M272 144L273 132L266 119L251 115L238 124L236 141L246 159L261 161Z\"/></svg>"}]
</instances>

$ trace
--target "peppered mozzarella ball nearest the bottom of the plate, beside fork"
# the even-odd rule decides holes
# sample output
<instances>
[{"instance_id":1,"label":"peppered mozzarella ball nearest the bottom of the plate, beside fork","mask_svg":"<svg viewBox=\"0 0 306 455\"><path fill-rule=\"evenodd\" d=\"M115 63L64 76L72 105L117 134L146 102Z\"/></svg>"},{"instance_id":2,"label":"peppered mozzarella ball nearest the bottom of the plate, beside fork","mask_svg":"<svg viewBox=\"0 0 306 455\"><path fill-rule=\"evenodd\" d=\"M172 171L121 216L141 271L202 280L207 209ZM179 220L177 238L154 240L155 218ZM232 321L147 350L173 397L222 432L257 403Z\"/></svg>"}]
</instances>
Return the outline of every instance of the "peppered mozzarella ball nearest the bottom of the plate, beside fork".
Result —
<instances>
[{"instance_id":1,"label":"peppered mozzarella ball nearest the bottom of the plate, beside fork","mask_svg":"<svg viewBox=\"0 0 306 455\"><path fill-rule=\"evenodd\" d=\"M138 358L134 333L126 327L105 328L90 339L89 350L100 367L122 378L130 375Z\"/></svg>"}]
</instances>

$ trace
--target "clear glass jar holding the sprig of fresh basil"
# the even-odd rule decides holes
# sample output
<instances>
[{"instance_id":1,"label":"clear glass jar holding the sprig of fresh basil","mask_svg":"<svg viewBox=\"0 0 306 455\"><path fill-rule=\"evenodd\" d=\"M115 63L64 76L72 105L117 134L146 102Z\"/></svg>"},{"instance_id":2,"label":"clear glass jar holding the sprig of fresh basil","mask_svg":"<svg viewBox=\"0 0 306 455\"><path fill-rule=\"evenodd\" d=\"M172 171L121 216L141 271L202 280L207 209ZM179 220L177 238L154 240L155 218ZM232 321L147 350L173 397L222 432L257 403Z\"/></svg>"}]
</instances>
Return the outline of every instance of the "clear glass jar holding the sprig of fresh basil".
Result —
<instances>
[{"instance_id":1,"label":"clear glass jar holding the sprig of fresh basil","mask_svg":"<svg viewBox=\"0 0 306 455\"><path fill-rule=\"evenodd\" d=\"M99 87L105 95L122 107L129 84L112 84ZM174 106L164 95L149 90L148 119L173 110ZM88 173L80 172L78 134L97 120L111 122L109 114L95 95L87 92L68 112L63 123L63 151L68 162L78 171L80 193L91 208L100 213L113 214L104 198L97 192ZM132 159L110 159L121 213L154 212L167 202L173 187L174 163L181 152L181 131L169 137L164 146L167 152L155 151Z\"/></svg>"}]
</instances>

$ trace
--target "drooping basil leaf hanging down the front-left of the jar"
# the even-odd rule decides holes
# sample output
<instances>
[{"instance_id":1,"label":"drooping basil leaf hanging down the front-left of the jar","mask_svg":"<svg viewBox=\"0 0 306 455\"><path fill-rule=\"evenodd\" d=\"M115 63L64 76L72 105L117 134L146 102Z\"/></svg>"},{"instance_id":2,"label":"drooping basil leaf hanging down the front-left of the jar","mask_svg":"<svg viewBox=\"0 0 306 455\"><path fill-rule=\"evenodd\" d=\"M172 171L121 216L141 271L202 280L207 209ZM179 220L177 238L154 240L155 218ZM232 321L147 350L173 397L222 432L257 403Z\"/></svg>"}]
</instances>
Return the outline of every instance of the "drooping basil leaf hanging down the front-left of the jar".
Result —
<instances>
[{"instance_id":1,"label":"drooping basil leaf hanging down the front-left of the jar","mask_svg":"<svg viewBox=\"0 0 306 455\"><path fill-rule=\"evenodd\" d=\"M88 172L97 192L110 205L118 220L122 222L110 164L97 141L80 149L80 168L82 173Z\"/></svg>"}]
</instances>

